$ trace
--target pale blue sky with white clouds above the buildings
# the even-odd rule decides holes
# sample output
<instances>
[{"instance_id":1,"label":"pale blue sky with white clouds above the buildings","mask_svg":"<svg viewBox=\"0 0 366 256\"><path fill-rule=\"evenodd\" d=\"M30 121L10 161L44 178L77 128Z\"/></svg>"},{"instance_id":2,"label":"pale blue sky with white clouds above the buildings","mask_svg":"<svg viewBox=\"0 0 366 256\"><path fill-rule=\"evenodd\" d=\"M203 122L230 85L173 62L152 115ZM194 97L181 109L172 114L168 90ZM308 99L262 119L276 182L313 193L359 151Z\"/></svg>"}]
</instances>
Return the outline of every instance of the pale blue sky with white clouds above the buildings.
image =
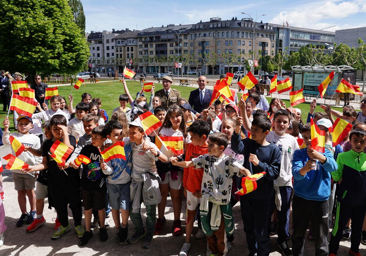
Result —
<instances>
[{"instance_id":1,"label":"pale blue sky with white clouds above the buildings","mask_svg":"<svg viewBox=\"0 0 366 256\"><path fill-rule=\"evenodd\" d=\"M336 31L355 27L366 27L366 0L322 1L291 0L228 2L211 1L121 1L81 0L86 16L86 32L112 29L138 29L161 27L167 24L194 24L202 20L220 17L222 20L238 17L252 18L265 14L257 19L264 23L286 24L308 29ZM255 3L253 3L255 2ZM275 4L273 4L275 3ZM330 28L327 28L330 27ZM327 29L325 29L327 28Z\"/></svg>"}]
</instances>

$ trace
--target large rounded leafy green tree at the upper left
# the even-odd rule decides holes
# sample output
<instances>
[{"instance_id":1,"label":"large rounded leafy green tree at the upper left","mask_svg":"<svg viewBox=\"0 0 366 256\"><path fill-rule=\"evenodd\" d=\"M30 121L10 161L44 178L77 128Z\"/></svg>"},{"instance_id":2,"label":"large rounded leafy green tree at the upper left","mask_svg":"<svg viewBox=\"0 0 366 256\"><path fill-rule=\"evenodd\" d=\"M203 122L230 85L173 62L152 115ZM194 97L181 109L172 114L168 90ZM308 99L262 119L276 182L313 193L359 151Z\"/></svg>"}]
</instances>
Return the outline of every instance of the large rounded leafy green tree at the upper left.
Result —
<instances>
[{"instance_id":1,"label":"large rounded leafy green tree at the upper left","mask_svg":"<svg viewBox=\"0 0 366 256\"><path fill-rule=\"evenodd\" d=\"M75 74L90 56L66 0L1 1L0 54L9 71Z\"/></svg>"}]
</instances>

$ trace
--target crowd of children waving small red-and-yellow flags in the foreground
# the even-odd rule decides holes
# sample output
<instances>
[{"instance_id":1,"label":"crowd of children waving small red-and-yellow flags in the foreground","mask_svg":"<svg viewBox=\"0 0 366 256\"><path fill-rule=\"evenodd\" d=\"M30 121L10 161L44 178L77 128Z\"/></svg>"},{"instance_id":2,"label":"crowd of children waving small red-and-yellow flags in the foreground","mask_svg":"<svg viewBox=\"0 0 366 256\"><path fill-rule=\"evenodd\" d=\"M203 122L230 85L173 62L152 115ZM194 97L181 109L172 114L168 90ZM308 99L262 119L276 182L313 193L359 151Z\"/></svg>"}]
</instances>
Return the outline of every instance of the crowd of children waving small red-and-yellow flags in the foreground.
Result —
<instances>
[{"instance_id":1,"label":"crowd of children waving small red-and-yellow flags in the foreground","mask_svg":"<svg viewBox=\"0 0 366 256\"><path fill-rule=\"evenodd\" d=\"M143 90L133 100L124 80L123 83L126 93L120 95L120 106L113 110L109 121L105 110L100 109L101 100L92 99L88 93L83 94L75 109L71 95L69 108L63 97L54 96L51 109L38 106L41 112L31 118L16 118L18 132L11 135L25 145L18 158L29 164L28 169L12 170L22 212L16 226L30 224L27 231L32 232L43 225L44 200L48 197L49 206L57 214L52 239L71 230L69 205L80 246L88 243L98 227L100 240L108 239L111 211L119 244L134 244L143 238L142 247L149 248L153 236L161 234L167 223L165 206L169 195L173 236L183 233L180 214L182 197L186 197L186 238L180 256L188 255L195 220L195 238L206 238L207 255L226 255L234 241L232 207L237 202L249 255L269 255L270 234L276 230L277 247L283 255L303 255L309 224L315 255L337 255L350 219L349 255L361 255L359 244L366 244L366 125L362 121L366 119L366 98L361 103L361 113L347 106L343 114L329 106L324 106L325 113L314 113L314 100L308 122L303 124L301 112L286 109L280 99L271 101L269 113L258 108L262 98L256 92L249 95L247 102L240 99L238 105L217 101L199 115L186 99L178 100L179 105L162 108L154 88L149 104ZM145 133L138 118L147 111L161 121L161 127L150 134ZM73 114L75 117L71 118ZM350 134L336 147L330 139L332 114L353 124ZM44 121L42 144L39 136L29 132L34 118ZM311 148L310 118L325 133L325 153ZM10 144L9 120L5 119L3 124L3 143ZM156 135L179 137L183 149L168 150ZM299 148L298 138L303 139L305 148ZM63 166L49 155L57 140L73 150ZM105 162L100 151L122 142L126 159ZM80 161L83 156L91 161ZM37 181L30 173L38 174ZM247 189L242 187L243 177L261 173L257 189L241 196L236 194ZM146 207L146 230L140 211L142 202ZM85 229L81 223L82 206ZM135 228L131 236L129 218ZM292 250L287 244L289 240Z\"/></svg>"}]
</instances>

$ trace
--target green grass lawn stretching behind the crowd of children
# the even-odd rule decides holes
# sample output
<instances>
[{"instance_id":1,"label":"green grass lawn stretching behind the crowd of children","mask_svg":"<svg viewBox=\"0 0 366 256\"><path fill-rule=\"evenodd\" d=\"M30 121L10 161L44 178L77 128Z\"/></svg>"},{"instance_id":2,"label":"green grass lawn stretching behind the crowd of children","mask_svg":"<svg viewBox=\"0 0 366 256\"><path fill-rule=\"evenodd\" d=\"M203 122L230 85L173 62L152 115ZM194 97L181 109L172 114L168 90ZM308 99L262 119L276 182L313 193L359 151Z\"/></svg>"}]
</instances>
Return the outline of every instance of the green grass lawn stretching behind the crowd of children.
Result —
<instances>
[{"instance_id":1,"label":"green grass lawn stretching behind the crowd of children","mask_svg":"<svg viewBox=\"0 0 366 256\"><path fill-rule=\"evenodd\" d=\"M139 82L133 82L133 84L131 85L131 81L127 81L127 87L128 90L130 91L130 94L132 95L132 97L136 97L136 93L138 91L141 90L141 86ZM155 84L155 91L163 89L163 85L161 83L156 83ZM183 87L183 86L172 86L172 88L179 90L180 91L180 95L183 98L188 99L189 98L189 94L192 90L195 90L196 88L193 87ZM66 98L66 101L68 103L68 95L70 94L72 89L72 86L60 86L59 87L59 95L62 95ZM101 98L102 99L102 108L107 110L107 113L109 116L112 115L112 111L113 109L115 109L116 107L119 106L119 95L121 93L124 93L123 90L123 84L122 82L113 82L111 83L110 86L108 86L108 83L97 83L97 84L90 84L90 83L86 83L86 86L82 86L80 87L79 90L72 90L72 96L74 97L74 107L75 105L81 101L81 94L83 93L90 93L91 96L93 98ZM147 101L149 101L150 98L150 93L145 93ZM240 97L241 94L238 94L238 97ZM268 102L270 102L271 98L266 97ZM283 100L286 103L286 106L290 106L290 101L288 100ZM129 105L129 104L128 104ZM309 112L310 109L310 103L301 103L299 105L296 106L296 108L301 109L302 112L302 119L303 122L306 123L306 118L307 118L307 113ZM2 109L2 106L1 108ZM335 110L341 111L342 112L342 108L334 108ZM317 108L315 109L315 112L322 112L323 109L320 108L320 106L317 106ZM7 115L6 112L0 111L0 119L5 118ZM9 115L10 117L12 117L12 115ZM13 122L10 122L10 130L14 131L14 125L12 124ZM2 129L4 129L4 125L1 122L0 127Z\"/></svg>"}]
</instances>

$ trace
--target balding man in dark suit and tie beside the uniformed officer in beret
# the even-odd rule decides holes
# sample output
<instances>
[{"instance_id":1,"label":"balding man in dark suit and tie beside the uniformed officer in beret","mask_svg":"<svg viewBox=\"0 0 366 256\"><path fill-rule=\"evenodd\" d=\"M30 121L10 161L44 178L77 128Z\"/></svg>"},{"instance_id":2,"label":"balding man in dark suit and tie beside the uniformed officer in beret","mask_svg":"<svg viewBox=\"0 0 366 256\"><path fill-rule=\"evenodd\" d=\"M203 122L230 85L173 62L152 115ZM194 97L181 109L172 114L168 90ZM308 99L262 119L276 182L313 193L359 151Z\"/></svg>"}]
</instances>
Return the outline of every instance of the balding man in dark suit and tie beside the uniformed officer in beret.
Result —
<instances>
[{"instance_id":1,"label":"balding man in dark suit and tie beside the uniformed officer in beret","mask_svg":"<svg viewBox=\"0 0 366 256\"><path fill-rule=\"evenodd\" d=\"M202 113L203 109L209 107L212 91L206 89L207 78L205 76L200 76L197 82L198 89L191 91L188 102L193 110L197 111L197 113Z\"/></svg>"}]
</instances>

